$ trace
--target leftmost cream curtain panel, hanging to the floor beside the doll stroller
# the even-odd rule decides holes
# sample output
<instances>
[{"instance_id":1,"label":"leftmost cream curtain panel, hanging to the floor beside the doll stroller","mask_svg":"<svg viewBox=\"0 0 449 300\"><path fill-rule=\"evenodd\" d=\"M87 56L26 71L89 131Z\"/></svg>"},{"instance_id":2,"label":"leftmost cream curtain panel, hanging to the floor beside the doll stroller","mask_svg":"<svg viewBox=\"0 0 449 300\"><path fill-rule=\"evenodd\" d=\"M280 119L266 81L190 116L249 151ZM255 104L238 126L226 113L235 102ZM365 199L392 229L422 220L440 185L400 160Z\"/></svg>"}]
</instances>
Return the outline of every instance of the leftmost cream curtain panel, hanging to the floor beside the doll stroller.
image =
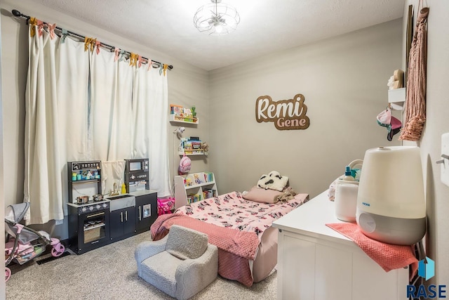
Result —
<instances>
[{"instance_id":1,"label":"leftmost cream curtain panel, hanging to the floor beside the doll stroller","mask_svg":"<svg viewBox=\"0 0 449 300\"><path fill-rule=\"evenodd\" d=\"M62 180L58 164L58 93L55 57L57 39L30 24L29 69L25 94L24 201L26 223L64 218Z\"/></svg>"}]
</instances>

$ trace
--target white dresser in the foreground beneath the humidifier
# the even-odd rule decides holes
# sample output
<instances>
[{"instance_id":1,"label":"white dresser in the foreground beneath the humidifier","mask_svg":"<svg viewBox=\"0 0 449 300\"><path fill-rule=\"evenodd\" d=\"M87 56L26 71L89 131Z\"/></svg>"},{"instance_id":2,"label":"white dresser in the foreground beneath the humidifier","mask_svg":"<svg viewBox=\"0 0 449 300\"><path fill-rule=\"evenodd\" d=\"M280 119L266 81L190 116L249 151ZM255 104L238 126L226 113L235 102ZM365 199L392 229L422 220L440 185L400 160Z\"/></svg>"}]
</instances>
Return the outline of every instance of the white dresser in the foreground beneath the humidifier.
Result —
<instances>
[{"instance_id":1,"label":"white dresser in the foreground beneath the humidifier","mask_svg":"<svg viewBox=\"0 0 449 300\"><path fill-rule=\"evenodd\" d=\"M408 268L385 272L326 223L335 216L327 191L273 223L278 228L278 299L407 299Z\"/></svg>"}]
</instances>

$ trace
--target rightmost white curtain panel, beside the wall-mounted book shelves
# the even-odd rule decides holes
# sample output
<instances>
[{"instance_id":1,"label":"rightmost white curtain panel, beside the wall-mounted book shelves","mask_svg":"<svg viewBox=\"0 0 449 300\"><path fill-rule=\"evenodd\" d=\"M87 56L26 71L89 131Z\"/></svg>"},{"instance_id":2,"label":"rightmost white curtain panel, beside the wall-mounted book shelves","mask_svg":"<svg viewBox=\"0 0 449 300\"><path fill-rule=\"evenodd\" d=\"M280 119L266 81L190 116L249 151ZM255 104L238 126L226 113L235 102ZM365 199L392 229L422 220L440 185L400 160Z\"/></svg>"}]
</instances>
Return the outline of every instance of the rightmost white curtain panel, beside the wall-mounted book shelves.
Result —
<instances>
[{"instance_id":1,"label":"rightmost white curtain panel, beside the wall-mounted book shelves","mask_svg":"<svg viewBox=\"0 0 449 300\"><path fill-rule=\"evenodd\" d=\"M149 188L172 195L168 166L168 87L161 69L134 70L133 158L149 158Z\"/></svg>"}]
</instances>

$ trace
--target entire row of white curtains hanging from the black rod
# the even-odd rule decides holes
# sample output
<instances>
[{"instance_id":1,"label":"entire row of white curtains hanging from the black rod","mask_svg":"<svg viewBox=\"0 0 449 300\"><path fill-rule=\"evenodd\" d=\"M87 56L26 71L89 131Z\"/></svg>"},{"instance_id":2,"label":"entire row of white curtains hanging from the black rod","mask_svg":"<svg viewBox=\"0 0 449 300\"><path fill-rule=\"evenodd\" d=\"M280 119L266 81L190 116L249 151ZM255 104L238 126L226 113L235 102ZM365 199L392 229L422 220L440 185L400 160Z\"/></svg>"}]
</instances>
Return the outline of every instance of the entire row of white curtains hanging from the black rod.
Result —
<instances>
[{"instance_id":1,"label":"entire row of white curtains hanging from the black rod","mask_svg":"<svg viewBox=\"0 0 449 300\"><path fill-rule=\"evenodd\" d=\"M115 177L123 182L123 159L148 157L150 188L161 197L171 195L166 74L130 66L102 48L85 51L84 43L56 36L50 25L32 24L25 96L26 222L46 223L67 214L68 161L114 162L106 167L106 184Z\"/></svg>"}]
</instances>

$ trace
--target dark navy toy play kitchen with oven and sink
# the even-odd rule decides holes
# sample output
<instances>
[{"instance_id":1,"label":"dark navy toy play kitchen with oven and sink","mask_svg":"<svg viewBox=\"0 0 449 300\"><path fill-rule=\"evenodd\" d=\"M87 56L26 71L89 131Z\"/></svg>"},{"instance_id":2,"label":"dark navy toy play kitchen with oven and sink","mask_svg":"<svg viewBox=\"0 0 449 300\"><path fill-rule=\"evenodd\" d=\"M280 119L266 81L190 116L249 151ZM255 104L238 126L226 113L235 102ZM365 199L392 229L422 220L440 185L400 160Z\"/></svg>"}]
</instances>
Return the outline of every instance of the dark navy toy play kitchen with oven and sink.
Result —
<instances>
[{"instance_id":1,"label":"dark navy toy play kitchen with oven and sink","mask_svg":"<svg viewBox=\"0 0 449 300\"><path fill-rule=\"evenodd\" d=\"M140 162L140 169L132 164L123 174L125 180L134 180L126 181L130 192L126 193L124 183L114 183L107 194L102 194L100 161L67 162L69 248L76 254L147 231L156 220L157 194L145 180L149 178L149 160L126 162L127 166L128 162Z\"/></svg>"}]
</instances>

